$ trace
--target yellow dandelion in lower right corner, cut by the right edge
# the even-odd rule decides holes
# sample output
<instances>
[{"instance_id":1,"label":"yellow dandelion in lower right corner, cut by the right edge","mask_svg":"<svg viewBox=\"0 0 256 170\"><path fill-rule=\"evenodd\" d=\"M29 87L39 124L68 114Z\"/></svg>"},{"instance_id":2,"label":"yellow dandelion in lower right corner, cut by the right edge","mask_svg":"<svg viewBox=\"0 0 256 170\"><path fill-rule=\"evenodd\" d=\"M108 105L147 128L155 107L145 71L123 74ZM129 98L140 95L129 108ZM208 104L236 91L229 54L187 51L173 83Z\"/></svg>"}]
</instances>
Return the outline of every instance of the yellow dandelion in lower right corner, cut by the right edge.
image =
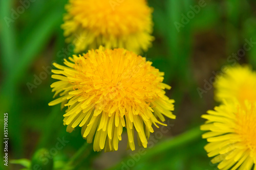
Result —
<instances>
[{"instance_id":1,"label":"yellow dandelion in lower right corner, cut by the right edge","mask_svg":"<svg viewBox=\"0 0 256 170\"><path fill-rule=\"evenodd\" d=\"M202 115L201 130L212 163L221 170L256 169L256 102L225 102Z\"/></svg>"}]
</instances>

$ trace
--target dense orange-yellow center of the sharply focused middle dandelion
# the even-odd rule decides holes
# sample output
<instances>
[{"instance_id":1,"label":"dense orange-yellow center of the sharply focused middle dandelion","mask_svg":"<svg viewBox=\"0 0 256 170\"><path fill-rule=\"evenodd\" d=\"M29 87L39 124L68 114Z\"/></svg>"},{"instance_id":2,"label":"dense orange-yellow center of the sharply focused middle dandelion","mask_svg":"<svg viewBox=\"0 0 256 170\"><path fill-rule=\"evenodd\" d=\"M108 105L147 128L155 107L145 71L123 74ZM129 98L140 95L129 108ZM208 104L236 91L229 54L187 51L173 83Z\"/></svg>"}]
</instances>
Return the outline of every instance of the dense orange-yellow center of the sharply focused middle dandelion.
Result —
<instances>
[{"instance_id":1,"label":"dense orange-yellow center of the sharply focused middle dandelion","mask_svg":"<svg viewBox=\"0 0 256 170\"><path fill-rule=\"evenodd\" d=\"M95 102L96 108L108 112L112 106L147 105L163 93L163 74L151 62L123 49L107 50L76 61L77 89ZM99 55L105 55L100 56Z\"/></svg>"}]
</instances>

